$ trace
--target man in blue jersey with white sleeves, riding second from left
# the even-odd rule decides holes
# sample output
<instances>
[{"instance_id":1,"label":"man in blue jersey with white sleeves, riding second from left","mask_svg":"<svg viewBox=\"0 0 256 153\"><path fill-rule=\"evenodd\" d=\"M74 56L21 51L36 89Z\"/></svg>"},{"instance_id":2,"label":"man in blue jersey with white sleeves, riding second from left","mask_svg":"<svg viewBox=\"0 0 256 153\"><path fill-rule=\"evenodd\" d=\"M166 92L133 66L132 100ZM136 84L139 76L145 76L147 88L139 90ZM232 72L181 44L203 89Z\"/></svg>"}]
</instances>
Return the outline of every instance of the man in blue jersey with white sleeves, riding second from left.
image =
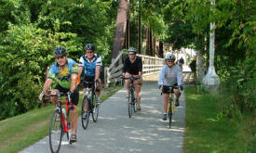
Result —
<instances>
[{"instance_id":1,"label":"man in blue jersey with white sleeves, riding second from left","mask_svg":"<svg viewBox=\"0 0 256 153\"><path fill-rule=\"evenodd\" d=\"M78 65L78 76L81 75L84 69L84 81L86 82L93 82L97 83L96 86L96 102L99 104L101 103L101 56L94 53L95 46L88 44L85 46L86 54L80 57L79 65ZM84 82L84 96L87 92L87 87L91 84L87 84ZM88 105L85 105L85 111L88 111ZM84 114L84 118L87 118L87 113Z\"/></svg>"}]
</instances>

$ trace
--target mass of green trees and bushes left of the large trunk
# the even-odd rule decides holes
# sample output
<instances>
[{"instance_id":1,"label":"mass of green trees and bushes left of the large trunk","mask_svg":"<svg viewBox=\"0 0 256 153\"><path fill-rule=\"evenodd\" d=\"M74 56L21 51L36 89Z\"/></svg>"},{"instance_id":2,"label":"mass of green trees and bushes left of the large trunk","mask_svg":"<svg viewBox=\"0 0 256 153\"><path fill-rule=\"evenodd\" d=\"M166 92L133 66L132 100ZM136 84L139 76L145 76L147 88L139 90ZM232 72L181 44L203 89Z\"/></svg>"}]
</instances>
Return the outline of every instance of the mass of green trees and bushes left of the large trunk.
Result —
<instances>
[{"instance_id":1,"label":"mass of green trees and bushes left of the large trunk","mask_svg":"<svg viewBox=\"0 0 256 153\"><path fill-rule=\"evenodd\" d=\"M56 46L65 46L68 57L78 61L84 45L92 43L103 63L110 63L118 6L114 0L0 0L0 4L0 120L38 106Z\"/></svg>"}]
</instances>

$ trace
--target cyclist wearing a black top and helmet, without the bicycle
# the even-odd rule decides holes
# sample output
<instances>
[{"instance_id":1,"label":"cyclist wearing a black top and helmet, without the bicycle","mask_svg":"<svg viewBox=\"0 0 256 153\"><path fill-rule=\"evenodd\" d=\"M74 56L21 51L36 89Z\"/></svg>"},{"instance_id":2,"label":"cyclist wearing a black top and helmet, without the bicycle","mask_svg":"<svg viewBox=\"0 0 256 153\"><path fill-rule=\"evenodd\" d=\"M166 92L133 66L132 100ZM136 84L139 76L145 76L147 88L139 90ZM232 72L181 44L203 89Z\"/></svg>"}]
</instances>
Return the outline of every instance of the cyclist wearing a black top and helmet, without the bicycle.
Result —
<instances>
[{"instance_id":1,"label":"cyclist wearing a black top and helmet, without the bicycle","mask_svg":"<svg viewBox=\"0 0 256 153\"><path fill-rule=\"evenodd\" d=\"M142 60L141 57L136 56L136 49L134 47L128 48L128 57L125 59L123 67L123 77L141 77L142 75ZM126 80L127 90L129 91L129 80ZM134 81L134 89L137 96L138 108L141 110L141 83L142 80ZM129 94L129 93L128 93ZM128 95L127 95L128 96Z\"/></svg>"}]
</instances>

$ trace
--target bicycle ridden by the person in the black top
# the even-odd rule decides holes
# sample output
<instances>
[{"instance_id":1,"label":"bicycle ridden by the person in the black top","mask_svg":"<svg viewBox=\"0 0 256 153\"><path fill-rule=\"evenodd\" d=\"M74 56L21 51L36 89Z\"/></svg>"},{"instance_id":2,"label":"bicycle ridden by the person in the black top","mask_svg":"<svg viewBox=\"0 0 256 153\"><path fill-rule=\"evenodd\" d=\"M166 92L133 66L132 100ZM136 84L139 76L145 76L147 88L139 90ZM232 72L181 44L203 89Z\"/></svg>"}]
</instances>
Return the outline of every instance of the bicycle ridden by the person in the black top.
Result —
<instances>
[{"instance_id":1,"label":"bicycle ridden by the person in the black top","mask_svg":"<svg viewBox=\"0 0 256 153\"><path fill-rule=\"evenodd\" d=\"M128 92L128 117L131 118L132 113L137 111L137 98L135 97L135 89L133 86L133 83L135 80L141 79L141 77L134 77L134 76L130 76L130 77L121 77L121 79L124 80L130 80L129 83L129 92Z\"/></svg>"}]
</instances>

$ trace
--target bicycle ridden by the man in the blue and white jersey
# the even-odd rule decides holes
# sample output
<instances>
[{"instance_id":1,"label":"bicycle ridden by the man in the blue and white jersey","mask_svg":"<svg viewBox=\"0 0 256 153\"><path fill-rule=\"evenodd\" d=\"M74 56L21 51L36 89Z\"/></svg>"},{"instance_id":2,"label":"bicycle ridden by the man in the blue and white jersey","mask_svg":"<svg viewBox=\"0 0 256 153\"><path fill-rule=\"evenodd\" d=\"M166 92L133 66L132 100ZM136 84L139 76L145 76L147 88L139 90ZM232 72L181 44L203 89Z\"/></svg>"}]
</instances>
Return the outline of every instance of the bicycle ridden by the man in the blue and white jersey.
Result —
<instances>
[{"instance_id":1,"label":"bicycle ridden by the man in the blue and white jersey","mask_svg":"<svg viewBox=\"0 0 256 153\"><path fill-rule=\"evenodd\" d=\"M86 130L88 128L88 121L89 121L89 115L92 116L92 121L96 122L99 116L99 108L100 104L96 103L96 95L95 95L95 89L97 83L95 81L93 82L85 82L88 84L87 86L87 92L86 95L83 98L82 102L82 111L81 111L81 118L82 118L82 126ZM88 103L88 104L87 104ZM85 105L88 105L88 111L85 111ZM86 118L84 117L86 113Z\"/></svg>"}]
</instances>

